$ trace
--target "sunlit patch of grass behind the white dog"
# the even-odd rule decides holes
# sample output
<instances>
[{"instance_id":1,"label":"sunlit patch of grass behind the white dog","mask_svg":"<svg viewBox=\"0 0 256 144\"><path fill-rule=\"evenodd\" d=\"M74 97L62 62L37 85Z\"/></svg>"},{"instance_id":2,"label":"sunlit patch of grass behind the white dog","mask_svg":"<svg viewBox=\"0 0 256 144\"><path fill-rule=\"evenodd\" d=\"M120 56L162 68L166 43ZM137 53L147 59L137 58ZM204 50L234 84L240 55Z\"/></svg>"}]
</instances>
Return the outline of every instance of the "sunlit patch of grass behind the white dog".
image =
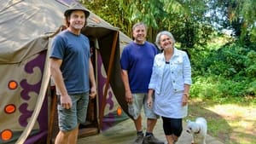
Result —
<instances>
[{"instance_id":1,"label":"sunlit patch of grass behind the white dog","mask_svg":"<svg viewBox=\"0 0 256 144\"><path fill-rule=\"evenodd\" d=\"M222 101L222 102L219 102ZM256 143L256 98L190 98L188 119L207 119L208 134L224 144Z\"/></svg>"}]
</instances>

